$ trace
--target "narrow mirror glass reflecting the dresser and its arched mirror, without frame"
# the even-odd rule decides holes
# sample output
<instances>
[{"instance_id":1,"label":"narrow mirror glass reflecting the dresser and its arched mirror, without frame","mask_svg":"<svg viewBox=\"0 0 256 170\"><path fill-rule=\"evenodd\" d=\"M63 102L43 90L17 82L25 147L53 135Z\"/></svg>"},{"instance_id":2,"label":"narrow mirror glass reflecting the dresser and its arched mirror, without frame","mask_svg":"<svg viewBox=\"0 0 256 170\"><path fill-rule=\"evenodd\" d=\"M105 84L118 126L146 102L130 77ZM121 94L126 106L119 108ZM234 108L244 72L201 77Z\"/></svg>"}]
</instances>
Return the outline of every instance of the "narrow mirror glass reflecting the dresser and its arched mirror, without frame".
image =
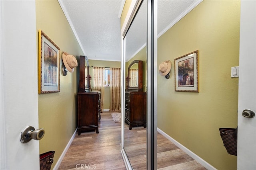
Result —
<instances>
[{"instance_id":1,"label":"narrow mirror glass reflecting the dresser and its arched mirror, without frame","mask_svg":"<svg viewBox=\"0 0 256 170\"><path fill-rule=\"evenodd\" d=\"M124 37L124 150L134 170L146 170L146 12L146 1L142 1Z\"/></svg>"}]
</instances>

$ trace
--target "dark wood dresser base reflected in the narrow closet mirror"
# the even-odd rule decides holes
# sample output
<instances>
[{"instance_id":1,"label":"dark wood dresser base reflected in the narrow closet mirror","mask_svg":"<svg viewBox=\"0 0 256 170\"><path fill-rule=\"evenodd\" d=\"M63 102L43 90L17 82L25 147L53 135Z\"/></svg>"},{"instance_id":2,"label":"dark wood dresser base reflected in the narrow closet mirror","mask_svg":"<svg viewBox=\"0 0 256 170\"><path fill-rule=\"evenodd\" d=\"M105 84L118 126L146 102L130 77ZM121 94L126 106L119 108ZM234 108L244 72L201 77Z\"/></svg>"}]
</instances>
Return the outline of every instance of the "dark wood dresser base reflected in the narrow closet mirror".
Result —
<instances>
[{"instance_id":1,"label":"dark wood dresser base reflected in the narrow closet mirror","mask_svg":"<svg viewBox=\"0 0 256 170\"><path fill-rule=\"evenodd\" d=\"M129 129L133 126L146 127L146 92L125 92L124 115Z\"/></svg>"}]
</instances>

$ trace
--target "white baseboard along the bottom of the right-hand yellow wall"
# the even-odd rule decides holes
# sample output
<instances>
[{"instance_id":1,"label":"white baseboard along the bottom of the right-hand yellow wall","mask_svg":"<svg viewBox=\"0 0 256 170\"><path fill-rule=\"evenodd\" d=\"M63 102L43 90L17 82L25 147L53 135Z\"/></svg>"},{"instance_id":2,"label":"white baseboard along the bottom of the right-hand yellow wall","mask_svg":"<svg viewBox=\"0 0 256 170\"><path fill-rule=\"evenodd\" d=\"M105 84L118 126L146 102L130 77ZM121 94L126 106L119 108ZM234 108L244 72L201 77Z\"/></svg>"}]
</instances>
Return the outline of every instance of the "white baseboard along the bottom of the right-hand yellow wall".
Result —
<instances>
[{"instance_id":1,"label":"white baseboard along the bottom of the right-hand yellow wall","mask_svg":"<svg viewBox=\"0 0 256 170\"><path fill-rule=\"evenodd\" d=\"M186 152L186 154L188 154L189 156L191 156L194 160L196 160L199 164L201 164L202 166L204 166L206 169L208 170L217 170L216 168L214 168L212 165L210 165L208 162L206 162L205 160L203 160L202 158L200 158L198 155L196 155L194 152L192 152L191 150L187 149L186 147L184 147L183 145L181 145L178 141L176 141L175 139L173 139L172 137L170 137L169 135L167 135L166 133L164 133L164 131L162 131L161 129L157 128L157 131L162 134L164 137L166 137L166 139L168 139L169 141L171 141L174 145L176 145L177 147L179 147L181 150L183 150L184 152Z\"/></svg>"}]
</instances>

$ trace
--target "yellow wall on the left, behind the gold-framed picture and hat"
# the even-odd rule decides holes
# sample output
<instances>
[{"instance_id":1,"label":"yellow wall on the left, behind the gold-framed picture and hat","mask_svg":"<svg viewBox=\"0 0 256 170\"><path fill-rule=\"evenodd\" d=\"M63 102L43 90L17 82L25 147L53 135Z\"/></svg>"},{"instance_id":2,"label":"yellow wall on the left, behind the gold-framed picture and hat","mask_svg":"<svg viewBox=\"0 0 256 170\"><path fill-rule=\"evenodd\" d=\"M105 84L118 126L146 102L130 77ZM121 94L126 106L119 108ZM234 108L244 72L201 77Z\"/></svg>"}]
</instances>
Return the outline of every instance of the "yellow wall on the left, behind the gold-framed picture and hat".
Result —
<instances>
[{"instance_id":1,"label":"yellow wall on the left, behind the gold-framed picture and hat","mask_svg":"<svg viewBox=\"0 0 256 170\"><path fill-rule=\"evenodd\" d=\"M60 47L60 68L62 51L76 59L83 55L57 0L36 1L36 28ZM55 150L52 168L76 129L77 72L78 67L67 76L60 73L60 92L38 95L39 127L46 132L39 141L40 153Z\"/></svg>"}]
</instances>

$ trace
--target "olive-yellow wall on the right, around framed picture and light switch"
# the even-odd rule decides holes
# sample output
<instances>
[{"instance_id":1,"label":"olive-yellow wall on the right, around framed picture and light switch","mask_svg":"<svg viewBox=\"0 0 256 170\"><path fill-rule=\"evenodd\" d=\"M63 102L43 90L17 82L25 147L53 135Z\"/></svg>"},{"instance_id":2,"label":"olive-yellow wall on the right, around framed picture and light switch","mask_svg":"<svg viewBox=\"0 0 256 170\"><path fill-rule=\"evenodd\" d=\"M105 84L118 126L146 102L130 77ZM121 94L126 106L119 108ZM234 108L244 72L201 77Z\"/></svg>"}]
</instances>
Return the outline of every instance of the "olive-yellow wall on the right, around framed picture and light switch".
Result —
<instances>
[{"instance_id":1,"label":"olive-yellow wall on the right, around framed picture and light switch","mask_svg":"<svg viewBox=\"0 0 256 170\"><path fill-rule=\"evenodd\" d=\"M158 65L172 62L170 79L158 74L158 128L218 170L236 169L218 128L237 126L240 1L204 0L158 38ZM174 59L199 50L200 92L175 92Z\"/></svg>"}]
</instances>

